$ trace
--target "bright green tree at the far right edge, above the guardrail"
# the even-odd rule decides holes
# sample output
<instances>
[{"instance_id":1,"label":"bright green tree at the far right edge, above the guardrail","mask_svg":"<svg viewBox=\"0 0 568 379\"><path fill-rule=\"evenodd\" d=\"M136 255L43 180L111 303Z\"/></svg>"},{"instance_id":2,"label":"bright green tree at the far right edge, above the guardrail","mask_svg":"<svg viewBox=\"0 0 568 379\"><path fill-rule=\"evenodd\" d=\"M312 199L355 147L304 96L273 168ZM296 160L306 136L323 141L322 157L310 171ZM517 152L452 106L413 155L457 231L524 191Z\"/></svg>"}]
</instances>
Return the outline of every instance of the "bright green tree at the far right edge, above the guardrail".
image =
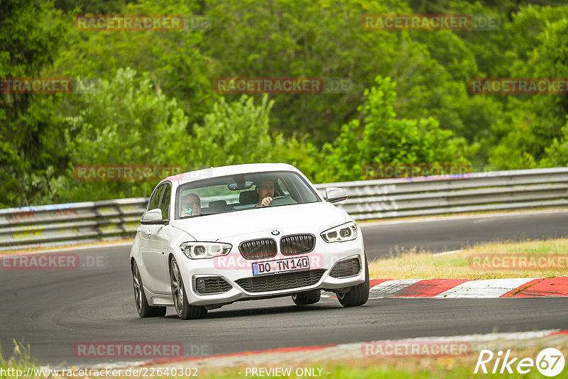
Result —
<instances>
[{"instance_id":1,"label":"bright green tree at the far right edge, above the guardrail","mask_svg":"<svg viewBox=\"0 0 568 379\"><path fill-rule=\"evenodd\" d=\"M511 48L515 60L507 76L568 77L567 17L568 6L521 8L507 26L519 41ZM489 167L523 169L561 162L568 115L566 96L496 96L506 105L486 140L491 153Z\"/></svg>"}]
</instances>

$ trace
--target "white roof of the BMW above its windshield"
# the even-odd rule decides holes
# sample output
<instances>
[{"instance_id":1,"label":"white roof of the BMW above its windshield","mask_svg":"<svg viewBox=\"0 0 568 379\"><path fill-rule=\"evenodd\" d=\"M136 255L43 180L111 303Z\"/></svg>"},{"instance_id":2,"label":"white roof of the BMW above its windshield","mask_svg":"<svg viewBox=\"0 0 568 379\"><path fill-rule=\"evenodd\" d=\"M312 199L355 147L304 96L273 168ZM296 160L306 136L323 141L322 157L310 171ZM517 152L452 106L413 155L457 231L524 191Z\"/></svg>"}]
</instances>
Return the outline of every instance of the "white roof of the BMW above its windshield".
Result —
<instances>
[{"instance_id":1,"label":"white roof of the BMW above its windshield","mask_svg":"<svg viewBox=\"0 0 568 379\"><path fill-rule=\"evenodd\" d=\"M230 165L220 167L209 167L202 170L182 172L178 175L172 175L161 180L161 182L177 182L182 185L196 180L209 179L211 177L222 177L234 174L247 174L250 172L273 172L273 171L293 171L302 175L302 172L293 165L288 163L247 163L244 165Z\"/></svg>"}]
</instances>

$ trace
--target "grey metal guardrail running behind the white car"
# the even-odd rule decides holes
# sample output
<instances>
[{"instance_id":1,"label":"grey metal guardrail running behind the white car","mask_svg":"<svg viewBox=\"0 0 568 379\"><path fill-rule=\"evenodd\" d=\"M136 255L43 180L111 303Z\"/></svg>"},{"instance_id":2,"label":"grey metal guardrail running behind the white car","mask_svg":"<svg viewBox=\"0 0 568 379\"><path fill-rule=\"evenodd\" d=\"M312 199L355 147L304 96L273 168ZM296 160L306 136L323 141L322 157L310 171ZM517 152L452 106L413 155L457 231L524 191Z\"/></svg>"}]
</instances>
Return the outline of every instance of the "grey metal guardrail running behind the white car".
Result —
<instances>
[{"instance_id":1,"label":"grey metal guardrail running behind the white car","mask_svg":"<svg viewBox=\"0 0 568 379\"><path fill-rule=\"evenodd\" d=\"M568 167L475 172L462 179L361 180L337 207L356 220L568 205ZM133 238L148 198L0 209L0 251Z\"/></svg>"}]
</instances>

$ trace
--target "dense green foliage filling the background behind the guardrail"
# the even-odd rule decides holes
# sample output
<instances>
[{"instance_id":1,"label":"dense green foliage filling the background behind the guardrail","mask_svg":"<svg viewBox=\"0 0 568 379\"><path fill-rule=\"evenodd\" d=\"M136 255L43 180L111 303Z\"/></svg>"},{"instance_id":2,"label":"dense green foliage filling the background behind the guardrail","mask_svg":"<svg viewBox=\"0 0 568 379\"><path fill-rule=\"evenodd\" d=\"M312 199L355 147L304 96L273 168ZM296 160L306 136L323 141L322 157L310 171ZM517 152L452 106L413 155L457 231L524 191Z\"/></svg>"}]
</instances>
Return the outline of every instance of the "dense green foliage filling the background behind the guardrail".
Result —
<instances>
[{"instance_id":1,"label":"dense green foliage filling the background behind the guardrail","mask_svg":"<svg viewBox=\"0 0 568 379\"><path fill-rule=\"evenodd\" d=\"M315 182L366 163L568 165L566 95L471 94L479 77L568 77L564 1L0 0L0 207L148 196L76 165L287 162ZM182 15L183 31L80 31L84 13ZM496 15L479 31L368 31L366 13ZM336 94L219 94L218 77L341 77Z\"/></svg>"}]
</instances>

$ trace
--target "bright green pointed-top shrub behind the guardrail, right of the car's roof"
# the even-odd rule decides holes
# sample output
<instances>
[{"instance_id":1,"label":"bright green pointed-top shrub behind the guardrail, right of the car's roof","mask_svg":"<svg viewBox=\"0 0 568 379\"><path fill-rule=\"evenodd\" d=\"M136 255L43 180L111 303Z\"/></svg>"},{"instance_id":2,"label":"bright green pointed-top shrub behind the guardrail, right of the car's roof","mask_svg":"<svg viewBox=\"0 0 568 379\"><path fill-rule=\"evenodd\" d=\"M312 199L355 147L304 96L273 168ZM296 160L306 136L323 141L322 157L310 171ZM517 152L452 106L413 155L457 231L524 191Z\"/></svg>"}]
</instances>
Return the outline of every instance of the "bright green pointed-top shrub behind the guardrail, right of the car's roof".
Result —
<instances>
[{"instance_id":1,"label":"bright green pointed-top shrub behind the guardrail, right of the car's roof","mask_svg":"<svg viewBox=\"0 0 568 379\"><path fill-rule=\"evenodd\" d=\"M359 106L363 123L351 121L333 144L324 146L329 157L323 181L361 180L361 168L372 163L469 163L464 138L439 128L437 120L395 119L396 83L376 77Z\"/></svg>"}]
</instances>

